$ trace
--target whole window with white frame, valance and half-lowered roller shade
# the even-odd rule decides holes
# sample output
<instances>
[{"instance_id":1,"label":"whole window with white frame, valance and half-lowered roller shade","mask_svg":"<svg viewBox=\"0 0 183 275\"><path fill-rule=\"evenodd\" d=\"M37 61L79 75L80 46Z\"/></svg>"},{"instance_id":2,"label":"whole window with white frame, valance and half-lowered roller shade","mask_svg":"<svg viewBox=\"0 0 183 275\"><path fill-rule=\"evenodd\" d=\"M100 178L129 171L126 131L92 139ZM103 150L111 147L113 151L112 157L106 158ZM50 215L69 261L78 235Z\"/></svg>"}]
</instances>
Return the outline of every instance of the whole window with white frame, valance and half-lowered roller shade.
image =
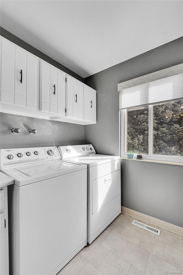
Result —
<instances>
[{"instance_id":1,"label":"whole window with white frame, valance and half-lowered roller shade","mask_svg":"<svg viewBox=\"0 0 183 275\"><path fill-rule=\"evenodd\" d=\"M182 64L159 72L118 84L121 157L135 148L144 159L182 163Z\"/></svg>"}]
</instances>

